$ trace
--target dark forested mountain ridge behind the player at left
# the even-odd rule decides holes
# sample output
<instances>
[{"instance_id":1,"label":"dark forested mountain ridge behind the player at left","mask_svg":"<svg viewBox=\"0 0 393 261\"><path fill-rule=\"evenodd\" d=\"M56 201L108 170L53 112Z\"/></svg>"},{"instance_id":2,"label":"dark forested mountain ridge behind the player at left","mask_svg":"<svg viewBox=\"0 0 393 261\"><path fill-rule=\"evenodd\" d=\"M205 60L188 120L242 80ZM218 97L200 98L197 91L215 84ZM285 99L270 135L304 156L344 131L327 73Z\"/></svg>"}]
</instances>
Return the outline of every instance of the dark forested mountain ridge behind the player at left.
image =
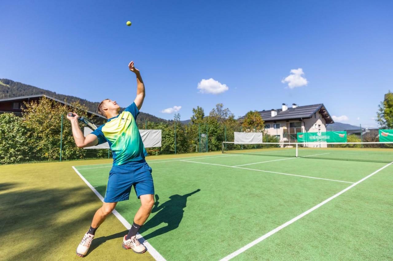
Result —
<instances>
[{"instance_id":1,"label":"dark forested mountain ridge behind the player at left","mask_svg":"<svg viewBox=\"0 0 393 261\"><path fill-rule=\"evenodd\" d=\"M0 79L0 99L37 95L37 94L45 94L53 98L59 99L61 101L64 100L66 100L67 102L79 101L79 103L86 105L89 111L98 113L97 107L99 105L99 102L88 101L86 99L82 99L71 95L59 94L57 92L48 91L32 85L28 85L20 82L14 82L13 80L9 80L9 79ZM141 122L145 122L145 120L149 122L164 122L164 123L169 122L165 119L158 118L149 113L141 112L137 118L137 122L141 123Z\"/></svg>"}]
</instances>

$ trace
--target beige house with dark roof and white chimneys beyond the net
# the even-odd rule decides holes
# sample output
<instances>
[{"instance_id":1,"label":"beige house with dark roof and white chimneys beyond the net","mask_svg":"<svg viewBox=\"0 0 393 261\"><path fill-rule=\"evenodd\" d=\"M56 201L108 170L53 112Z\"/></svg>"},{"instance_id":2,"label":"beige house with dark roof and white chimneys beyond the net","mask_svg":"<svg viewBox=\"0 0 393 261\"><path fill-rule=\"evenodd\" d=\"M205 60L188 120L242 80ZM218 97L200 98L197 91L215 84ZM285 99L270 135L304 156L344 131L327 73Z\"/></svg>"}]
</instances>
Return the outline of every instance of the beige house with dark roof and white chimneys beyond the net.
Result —
<instances>
[{"instance_id":1,"label":"beige house with dark roof and white chimneys beyond the net","mask_svg":"<svg viewBox=\"0 0 393 261\"><path fill-rule=\"evenodd\" d=\"M267 134L280 141L297 141L298 132L325 132L327 124L334 123L323 103L292 107L283 103L281 109L259 111ZM240 119L244 118L241 117Z\"/></svg>"}]
</instances>

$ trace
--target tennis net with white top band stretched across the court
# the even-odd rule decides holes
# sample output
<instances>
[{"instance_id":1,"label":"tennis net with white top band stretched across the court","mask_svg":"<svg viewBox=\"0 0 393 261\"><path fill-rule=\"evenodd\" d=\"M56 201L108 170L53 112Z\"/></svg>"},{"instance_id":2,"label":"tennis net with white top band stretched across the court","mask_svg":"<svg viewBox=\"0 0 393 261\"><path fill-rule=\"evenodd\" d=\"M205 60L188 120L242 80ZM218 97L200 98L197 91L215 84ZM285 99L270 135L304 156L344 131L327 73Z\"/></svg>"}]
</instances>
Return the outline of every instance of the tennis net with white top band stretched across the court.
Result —
<instances>
[{"instance_id":1,"label":"tennis net with white top band stretched across the court","mask_svg":"<svg viewBox=\"0 0 393 261\"><path fill-rule=\"evenodd\" d=\"M393 142L222 142L222 153L350 161L393 162Z\"/></svg>"}]
</instances>

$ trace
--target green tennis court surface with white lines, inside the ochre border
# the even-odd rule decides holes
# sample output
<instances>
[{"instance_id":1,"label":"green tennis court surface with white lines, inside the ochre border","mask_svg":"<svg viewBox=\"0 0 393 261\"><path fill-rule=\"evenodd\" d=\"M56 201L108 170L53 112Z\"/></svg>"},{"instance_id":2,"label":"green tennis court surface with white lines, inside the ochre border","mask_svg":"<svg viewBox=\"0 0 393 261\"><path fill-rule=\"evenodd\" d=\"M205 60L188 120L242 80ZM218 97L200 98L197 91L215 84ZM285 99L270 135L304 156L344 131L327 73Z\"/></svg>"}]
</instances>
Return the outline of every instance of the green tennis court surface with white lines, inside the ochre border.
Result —
<instances>
[{"instance_id":1,"label":"green tennis court surface with white lines, inside the ochre border","mask_svg":"<svg viewBox=\"0 0 393 261\"><path fill-rule=\"evenodd\" d=\"M389 163L263 154L148 163L158 201L140 233L159 253L155 258L382 260L393 254ZM110 167L75 169L104 196ZM116 210L132 223L139 206L132 190Z\"/></svg>"}]
</instances>

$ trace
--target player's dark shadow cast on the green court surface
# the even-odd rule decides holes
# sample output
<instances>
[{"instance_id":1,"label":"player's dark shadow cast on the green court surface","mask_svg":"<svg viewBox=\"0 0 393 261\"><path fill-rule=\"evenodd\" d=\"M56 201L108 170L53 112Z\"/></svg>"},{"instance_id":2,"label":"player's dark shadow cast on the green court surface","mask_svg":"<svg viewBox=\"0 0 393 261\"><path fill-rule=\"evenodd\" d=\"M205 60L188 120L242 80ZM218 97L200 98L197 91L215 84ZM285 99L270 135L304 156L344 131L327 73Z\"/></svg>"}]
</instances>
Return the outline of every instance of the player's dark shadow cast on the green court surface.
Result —
<instances>
[{"instance_id":1,"label":"player's dark shadow cast on the green court surface","mask_svg":"<svg viewBox=\"0 0 393 261\"><path fill-rule=\"evenodd\" d=\"M158 212L154 217L152 217L149 221L141 227L139 233L143 235L143 238L148 240L149 238L160 236L165 234L171 230L174 230L179 227L180 222L183 219L183 208L187 207L187 198L196 192L199 192L200 189L197 189L191 193L184 194L180 196L178 194L172 195L169 197L168 201L165 201L160 205L159 197L156 195L156 202L154 203L154 207L152 209L152 213ZM157 227L161 223L167 223L167 226L158 228L153 232L145 235L144 232Z\"/></svg>"}]
</instances>

